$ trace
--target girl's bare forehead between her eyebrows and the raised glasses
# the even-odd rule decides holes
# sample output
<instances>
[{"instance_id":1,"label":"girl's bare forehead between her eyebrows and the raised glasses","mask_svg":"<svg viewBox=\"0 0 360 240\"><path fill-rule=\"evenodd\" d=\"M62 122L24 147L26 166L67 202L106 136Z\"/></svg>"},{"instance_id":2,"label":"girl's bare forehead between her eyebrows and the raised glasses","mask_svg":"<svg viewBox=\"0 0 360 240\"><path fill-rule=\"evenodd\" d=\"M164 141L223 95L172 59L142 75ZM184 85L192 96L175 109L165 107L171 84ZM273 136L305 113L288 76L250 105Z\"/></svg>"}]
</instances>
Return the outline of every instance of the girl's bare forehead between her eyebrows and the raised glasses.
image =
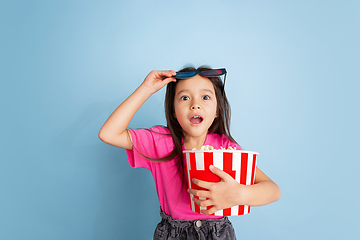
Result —
<instances>
[{"instance_id":1,"label":"girl's bare forehead between her eyebrows and the raised glasses","mask_svg":"<svg viewBox=\"0 0 360 240\"><path fill-rule=\"evenodd\" d=\"M209 89L215 93L212 82L208 78L200 75L178 81L179 82L176 84L175 94L183 90L198 91L203 89Z\"/></svg>"}]
</instances>

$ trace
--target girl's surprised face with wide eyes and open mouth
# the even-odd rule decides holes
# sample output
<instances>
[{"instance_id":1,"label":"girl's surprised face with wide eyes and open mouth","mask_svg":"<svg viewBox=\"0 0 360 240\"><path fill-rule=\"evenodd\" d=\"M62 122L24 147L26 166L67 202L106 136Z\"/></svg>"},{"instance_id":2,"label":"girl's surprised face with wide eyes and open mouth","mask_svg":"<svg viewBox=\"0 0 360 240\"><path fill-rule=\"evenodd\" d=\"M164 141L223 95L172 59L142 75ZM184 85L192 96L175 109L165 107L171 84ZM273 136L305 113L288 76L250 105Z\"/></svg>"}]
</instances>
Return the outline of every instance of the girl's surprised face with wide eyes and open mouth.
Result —
<instances>
[{"instance_id":1,"label":"girl's surprised face with wide eyes and open mouth","mask_svg":"<svg viewBox=\"0 0 360 240\"><path fill-rule=\"evenodd\" d=\"M174 108L185 140L191 137L205 139L217 117L217 101L211 81L200 75L180 80L175 89Z\"/></svg>"}]
</instances>

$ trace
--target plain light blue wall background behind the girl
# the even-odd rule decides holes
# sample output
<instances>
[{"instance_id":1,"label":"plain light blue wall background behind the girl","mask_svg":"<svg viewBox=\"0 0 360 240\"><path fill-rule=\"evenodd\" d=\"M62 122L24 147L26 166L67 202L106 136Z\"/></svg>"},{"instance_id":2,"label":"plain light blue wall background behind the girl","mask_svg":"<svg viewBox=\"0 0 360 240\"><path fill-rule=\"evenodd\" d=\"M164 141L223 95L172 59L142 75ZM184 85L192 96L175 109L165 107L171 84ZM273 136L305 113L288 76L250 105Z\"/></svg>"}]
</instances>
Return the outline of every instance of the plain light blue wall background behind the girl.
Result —
<instances>
[{"instance_id":1,"label":"plain light blue wall background behind the girl","mask_svg":"<svg viewBox=\"0 0 360 240\"><path fill-rule=\"evenodd\" d=\"M239 239L359 239L359 1L1 1L0 239L152 239L151 174L97 135L153 69L226 67L282 190ZM130 127L165 124L164 91Z\"/></svg>"}]
</instances>

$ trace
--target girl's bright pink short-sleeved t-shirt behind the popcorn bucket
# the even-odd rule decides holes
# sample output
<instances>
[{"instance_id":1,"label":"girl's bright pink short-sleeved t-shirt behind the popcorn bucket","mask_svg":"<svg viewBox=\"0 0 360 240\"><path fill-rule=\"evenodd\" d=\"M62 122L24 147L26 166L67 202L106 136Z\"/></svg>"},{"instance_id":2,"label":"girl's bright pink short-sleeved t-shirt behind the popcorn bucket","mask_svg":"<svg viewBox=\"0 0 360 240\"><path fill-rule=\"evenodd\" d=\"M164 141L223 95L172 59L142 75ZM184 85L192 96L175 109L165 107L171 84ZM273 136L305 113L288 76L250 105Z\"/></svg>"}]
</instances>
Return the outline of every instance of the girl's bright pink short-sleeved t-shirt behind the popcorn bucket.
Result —
<instances>
[{"instance_id":1,"label":"girl's bright pink short-sleeved t-shirt behind the popcorn bucket","mask_svg":"<svg viewBox=\"0 0 360 240\"><path fill-rule=\"evenodd\" d=\"M162 158L167 156L174 148L170 131L166 127L156 126L151 129L130 129L133 150L127 150L127 157L131 167L147 168L151 171L156 185L161 209L174 219L195 220L204 218L221 218L195 213L190 209L190 198L187 192L187 184L182 184L182 177L178 173L177 163L179 157L169 161L152 161L143 155L151 158ZM208 134L204 145L211 145L218 149L241 147L230 142L225 135ZM141 153L139 153L138 151ZM183 146L183 150L185 150Z\"/></svg>"}]
</instances>

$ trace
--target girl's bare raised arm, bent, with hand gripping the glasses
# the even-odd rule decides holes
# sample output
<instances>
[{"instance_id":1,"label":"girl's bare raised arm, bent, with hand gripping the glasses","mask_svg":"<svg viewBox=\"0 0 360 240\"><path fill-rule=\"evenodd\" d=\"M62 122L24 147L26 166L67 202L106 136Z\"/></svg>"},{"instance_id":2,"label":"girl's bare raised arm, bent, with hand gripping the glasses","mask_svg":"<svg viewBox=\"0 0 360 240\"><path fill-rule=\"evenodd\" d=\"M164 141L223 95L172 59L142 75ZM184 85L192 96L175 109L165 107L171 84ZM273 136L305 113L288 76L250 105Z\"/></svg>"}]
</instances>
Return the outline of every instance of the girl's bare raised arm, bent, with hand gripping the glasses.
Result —
<instances>
[{"instance_id":1,"label":"girl's bare raised arm, bent, with hand gripping the glasses","mask_svg":"<svg viewBox=\"0 0 360 240\"><path fill-rule=\"evenodd\" d=\"M100 129L99 138L110 145L132 149L131 135L126 130L131 119L152 94L169 82L175 82L175 75L173 70L151 71L144 82L106 120Z\"/></svg>"}]
</instances>

